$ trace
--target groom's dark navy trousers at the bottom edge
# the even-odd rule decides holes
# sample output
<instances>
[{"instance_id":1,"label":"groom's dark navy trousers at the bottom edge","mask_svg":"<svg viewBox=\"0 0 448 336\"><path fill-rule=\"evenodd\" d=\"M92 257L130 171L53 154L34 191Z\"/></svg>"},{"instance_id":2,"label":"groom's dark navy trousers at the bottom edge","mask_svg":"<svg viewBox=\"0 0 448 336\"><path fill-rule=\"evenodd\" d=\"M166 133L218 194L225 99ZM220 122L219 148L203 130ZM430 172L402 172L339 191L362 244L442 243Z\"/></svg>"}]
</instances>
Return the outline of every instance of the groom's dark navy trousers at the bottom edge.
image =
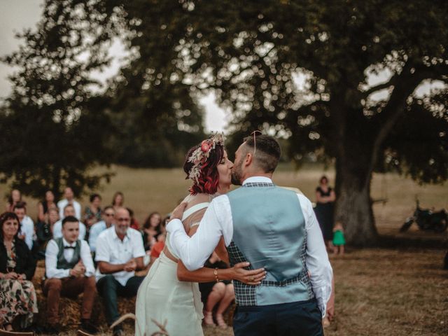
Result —
<instances>
[{"instance_id":1,"label":"groom's dark navy trousers at the bottom edge","mask_svg":"<svg viewBox=\"0 0 448 336\"><path fill-rule=\"evenodd\" d=\"M235 336L323 336L322 314L316 299L239 306L233 318Z\"/></svg>"}]
</instances>

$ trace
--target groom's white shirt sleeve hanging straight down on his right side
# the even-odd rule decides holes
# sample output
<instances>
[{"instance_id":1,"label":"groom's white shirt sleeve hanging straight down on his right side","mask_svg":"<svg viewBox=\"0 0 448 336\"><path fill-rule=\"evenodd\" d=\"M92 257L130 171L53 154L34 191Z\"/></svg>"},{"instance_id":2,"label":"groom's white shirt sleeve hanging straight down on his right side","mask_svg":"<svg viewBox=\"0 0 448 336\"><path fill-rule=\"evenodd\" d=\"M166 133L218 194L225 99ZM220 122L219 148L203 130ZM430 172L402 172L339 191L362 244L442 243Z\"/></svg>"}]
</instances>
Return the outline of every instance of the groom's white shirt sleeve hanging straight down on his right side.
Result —
<instances>
[{"instance_id":1,"label":"groom's white shirt sleeve hanging straight down on his right side","mask_svg":"<svg viewBox=\"0 0 448 336\"><path fill-rule=\"evenodd\" d=\"M307 255L305 262L310 273L313 293L316 296L318 307L321 309L322 317L324 317L327 302L331 295L333 272L330 260L328 260L321 228L318 225L311 202L303 195L297 195L297 197L299 197L307 229Z\"/></svg>"}]
</instances>

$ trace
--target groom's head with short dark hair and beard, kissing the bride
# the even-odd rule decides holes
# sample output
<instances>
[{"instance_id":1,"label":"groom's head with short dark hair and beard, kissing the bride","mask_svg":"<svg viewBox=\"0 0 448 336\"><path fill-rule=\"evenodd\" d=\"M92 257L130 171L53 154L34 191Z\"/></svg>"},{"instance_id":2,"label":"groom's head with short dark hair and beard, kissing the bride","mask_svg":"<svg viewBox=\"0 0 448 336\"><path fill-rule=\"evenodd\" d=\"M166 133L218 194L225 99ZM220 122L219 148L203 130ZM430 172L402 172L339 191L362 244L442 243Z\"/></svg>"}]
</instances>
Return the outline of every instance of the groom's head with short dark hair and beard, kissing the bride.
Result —
<instances>
[{"instance_id":1,"label":"groom's head with short dark hair and beard, kissing the bride","mask_svg":"<svg viewBox=\"0 0 448 336\"><path fill-rule=\"evenodd\" d=\"M280 145L273 137L264 134L246 137L235 152L232 183L239 186L250 176L272 175L280 155Z\"/></svg>"}]
</instances>

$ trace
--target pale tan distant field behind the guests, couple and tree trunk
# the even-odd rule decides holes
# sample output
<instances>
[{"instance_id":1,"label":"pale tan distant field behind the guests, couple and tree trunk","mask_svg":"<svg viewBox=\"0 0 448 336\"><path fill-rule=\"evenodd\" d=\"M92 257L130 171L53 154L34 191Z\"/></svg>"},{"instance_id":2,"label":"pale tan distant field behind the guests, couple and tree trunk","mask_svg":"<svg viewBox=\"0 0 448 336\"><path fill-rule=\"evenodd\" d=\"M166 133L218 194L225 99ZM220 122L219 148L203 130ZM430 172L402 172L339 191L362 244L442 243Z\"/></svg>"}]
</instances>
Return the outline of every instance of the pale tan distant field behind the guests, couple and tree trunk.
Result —
<instances>
[{"instance_id":1,"label":"pale tan distant field behind the guests, couple and tree trunk","mask_svg":"<svg viewBox=\"0 0 448 336\"><path fill-rule=\"evenodd\" d=\"M185 174L180 168L132 169L113 166L111 170L116 176L111 183L97 190L103 197L103 206L110 204L113 194L120 190L125 193L125 205L134 210L139 223L143 223L152 211L160 211L162 216L168 214L188 193L189 181L185 180ZM308 166L299 171L293 171L289 166L280 167L274 174L274 183L279 186L300 188L304 195L314 201L314 190L323 173L328 175L330 183L334 185L334 172L332 170L324 172L320 166ZM4 195L6 186L0 185L0 192ZM387 199L385 204L381 202L374 204L379 232L395 235L396 229L402 225L405 218L412 215L415 197L419 197L422 207L448 209L448 183L443 186L419 186L414 181L396 174L374 175L372 198ZM27 197L25 200L28 202L29 216L36 218L37 200ZM88 197L81 200L83 206L87 202ZM416 232L415 228L410 232Z\"/></svg>"}]
</instances>

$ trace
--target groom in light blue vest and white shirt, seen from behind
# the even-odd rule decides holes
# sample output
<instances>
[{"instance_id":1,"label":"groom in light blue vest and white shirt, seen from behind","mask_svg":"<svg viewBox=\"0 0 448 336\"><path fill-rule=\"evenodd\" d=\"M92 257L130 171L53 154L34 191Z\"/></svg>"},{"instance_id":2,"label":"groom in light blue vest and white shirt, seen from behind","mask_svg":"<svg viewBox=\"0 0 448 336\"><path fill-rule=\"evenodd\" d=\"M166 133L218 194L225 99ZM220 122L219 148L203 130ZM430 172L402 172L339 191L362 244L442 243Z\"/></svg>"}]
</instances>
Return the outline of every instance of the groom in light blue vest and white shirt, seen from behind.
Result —
<instances>
[{"instance_id":1,"label":"groom in light blue vest and white shirt, seen from behind","mask_svg":"<svg viewBox=\"0 0 448 336\"><path fill-rule=\"evenodd\" d=\"M179 220L185 204L167 225L174 252L190 270L204 265L221 236L232 265L265 267L258 286L234 281L236 336L323 335L332 269L311 202L272 183L280 155L274 138L246 138L232 171L232 183L242 187L211 202L193 237Z\"/></svg>"}]
</instances>

